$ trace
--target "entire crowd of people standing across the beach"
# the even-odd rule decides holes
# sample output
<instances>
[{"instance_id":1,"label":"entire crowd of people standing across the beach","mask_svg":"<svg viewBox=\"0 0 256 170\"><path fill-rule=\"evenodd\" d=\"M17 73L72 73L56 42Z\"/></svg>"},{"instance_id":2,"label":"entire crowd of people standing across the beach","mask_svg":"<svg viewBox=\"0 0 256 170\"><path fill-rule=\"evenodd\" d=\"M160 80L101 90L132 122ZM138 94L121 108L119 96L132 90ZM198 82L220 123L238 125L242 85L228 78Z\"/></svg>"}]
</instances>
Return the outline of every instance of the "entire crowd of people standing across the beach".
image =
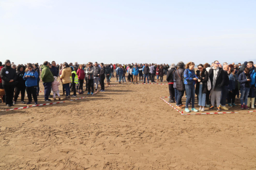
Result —
<instances>
[{"instance_id":1,"label":"entire crowd of people standing across the beach","mask_svg":"<svg viewBox=\"0 0 256 170\"><path fill-rule=\"evenodd\" d=\"M151 64L104 64L100 65L95 62L79 65L77 62L64 62L56 65L56 62L44 62L43 65L38 63L28 63L25 65L16 65L6 60L4 65L0 62L0 89L4 89L5 95L1 102L5 102L7 107L12 107L17 103L21 95L21 103L25 102L25 92L27 92L28 102L32 103L32 97L37 104L37 96L40 92L40 81L43 82L45 91L45 101L61 100L59 86L62 84L64 100L70 97L76 97L77 91L83 94L83 84L88 95L93 95L94 90L105 92L105 79L109 85L111 78L116 73L116 80L121 83L156 83L163 82L163 76L166 75L166 81L169 84L169 102L176 103L176 108L185 108L185 111L204 111L205 107L210 110L216 108L217 111L228 110L229 107L237 107L236 96L240 95L241 109L248 110L255 106L255 86L256 86L256 68L254 62L244 62L243 65L238 63L221 63L215 62L197 65L189 62L186 65L183 62L157 65ZM41 74L40 74L41 73ZM156 76L156 81L155 81ZM61 83L58 81L60 78ZM147 80L147 81L146 81ZM73 91L73 95L71 95ZM186 92L186 105L182 104L182 97ZM51 95L53 93L53 95ZM195 94L199 108L195 108ZM56 97L58 95L58 97ZM216 107L215 107L216 102ZM191 106L191 110L189 110Z\"/></svg>"}]
</instances>

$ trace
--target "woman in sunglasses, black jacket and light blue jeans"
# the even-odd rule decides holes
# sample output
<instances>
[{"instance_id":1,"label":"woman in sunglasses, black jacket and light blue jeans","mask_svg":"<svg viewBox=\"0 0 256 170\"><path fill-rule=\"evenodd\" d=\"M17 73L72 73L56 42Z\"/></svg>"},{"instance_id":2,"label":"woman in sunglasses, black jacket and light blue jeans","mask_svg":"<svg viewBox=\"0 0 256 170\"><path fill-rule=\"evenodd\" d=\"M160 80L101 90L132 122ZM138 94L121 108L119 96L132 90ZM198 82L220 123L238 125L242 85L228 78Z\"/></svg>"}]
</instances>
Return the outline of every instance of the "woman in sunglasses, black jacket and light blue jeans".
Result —
<instances>
[{"instance_id":1,"label":"woman in sunglasses, black jacket and light blue jeans","mask_svg":"<svg viewBox=\"0 0 256 170\"><path fill-rule=\"evenodd\" d=\"M195 87L195 94L198 96L198 111L205 111L205 100L207 95L207 81L208 81L208 72L203 68L202 64L197 66L197 86Z\"/></svg>"}]
</instances>

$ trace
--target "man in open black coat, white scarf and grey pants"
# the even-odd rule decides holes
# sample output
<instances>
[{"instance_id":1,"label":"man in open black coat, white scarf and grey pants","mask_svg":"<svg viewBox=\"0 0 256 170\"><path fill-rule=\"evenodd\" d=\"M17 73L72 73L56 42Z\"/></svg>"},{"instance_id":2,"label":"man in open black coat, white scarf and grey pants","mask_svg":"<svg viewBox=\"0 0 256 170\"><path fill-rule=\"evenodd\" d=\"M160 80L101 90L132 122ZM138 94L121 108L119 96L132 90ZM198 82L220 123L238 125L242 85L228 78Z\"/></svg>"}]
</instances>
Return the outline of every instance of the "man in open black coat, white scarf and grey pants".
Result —
<instances>
[{"instance_id":1,"label":"man in open black coat, white scarf and grey pants","mask_svg":"<svg viewBox=\"0 0 256 170\"><path fill-rule=\"evenodd\" d=\"M216 60L214 67L209 70L209 78L211 81L211 107L210 110L214 109L215 99L217 104L217 111L221 111L221 89L224 85L224 74L222 68L219 67L220 62Z\"/></svg>"}]
</instances>

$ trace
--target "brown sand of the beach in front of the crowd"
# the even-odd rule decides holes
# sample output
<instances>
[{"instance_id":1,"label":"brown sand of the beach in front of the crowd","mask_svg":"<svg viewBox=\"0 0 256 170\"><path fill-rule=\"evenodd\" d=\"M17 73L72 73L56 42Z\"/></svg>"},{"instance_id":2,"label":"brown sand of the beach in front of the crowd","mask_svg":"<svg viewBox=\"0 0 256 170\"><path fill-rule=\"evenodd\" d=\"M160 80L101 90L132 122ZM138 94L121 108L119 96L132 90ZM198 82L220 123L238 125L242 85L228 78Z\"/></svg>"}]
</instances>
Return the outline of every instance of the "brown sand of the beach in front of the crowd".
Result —
<instances>
[{"instance_id":1,"label":"brown sand of the beach in front of the crowd","mask_svg":"<svg viewBox=\"0 0 256 170\"><path fill-rule=\"evenodd\" d=\"M1 111L0 169L256 169L255 112L182 116L167 85L117 85Z\"/></svg>"}]
</instances>

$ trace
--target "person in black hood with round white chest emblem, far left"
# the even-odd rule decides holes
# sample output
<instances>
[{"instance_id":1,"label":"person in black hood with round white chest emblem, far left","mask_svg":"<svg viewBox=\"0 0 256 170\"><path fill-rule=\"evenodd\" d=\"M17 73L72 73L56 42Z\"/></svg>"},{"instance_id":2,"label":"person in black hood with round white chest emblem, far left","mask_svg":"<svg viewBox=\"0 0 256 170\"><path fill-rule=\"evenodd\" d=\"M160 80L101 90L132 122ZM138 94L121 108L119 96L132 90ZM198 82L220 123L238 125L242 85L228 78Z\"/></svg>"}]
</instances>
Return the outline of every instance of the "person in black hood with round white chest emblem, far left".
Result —
<instances>
[{"instance_id":1,"label":"person in black hood with round white chest emblem, far left","mask_svg":"<svg viewBox=\"0 0 256 170\"><path fill-rule=\"evenodd\" d=\"M12 99L14 98L14 87L15 81L17 79L16 71L11 68L10 60L6 60L4 63L5 67L1 69L0 76L2 79L2 87L4 87L4 92L6 93L6 105L7 107L12 107Z\"/></svg>"}]
</instances>

